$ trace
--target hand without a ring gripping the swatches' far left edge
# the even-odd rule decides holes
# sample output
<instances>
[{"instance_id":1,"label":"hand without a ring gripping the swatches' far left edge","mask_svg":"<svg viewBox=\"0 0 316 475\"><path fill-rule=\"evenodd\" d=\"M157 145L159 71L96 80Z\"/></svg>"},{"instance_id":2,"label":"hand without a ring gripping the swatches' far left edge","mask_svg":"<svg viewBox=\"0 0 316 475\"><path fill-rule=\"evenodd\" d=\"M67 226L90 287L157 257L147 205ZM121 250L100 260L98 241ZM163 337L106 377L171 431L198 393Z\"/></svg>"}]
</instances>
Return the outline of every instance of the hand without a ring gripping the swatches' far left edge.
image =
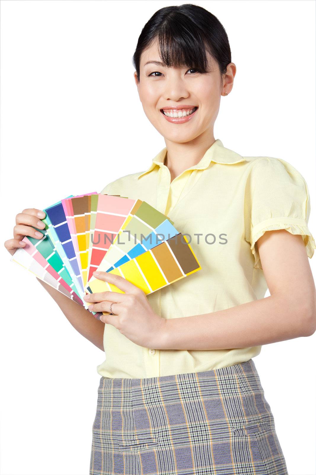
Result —
<instances>
[{"instance_id":1,"label":"hand without a ring gripping the swatches' far left edge","mask_svg":"<svg viewBox=\"0 0 316 475\"><path fill-rule=\"evenodd\" d=\"M45 224L41 221L46 216L41 209L27 208L23 209L22 213L18 213L13 228L13 239L8 239L4 243L4 247L8 249L11 256L15 253L18 247L25 247L25 242L21 239L25 236L35 237L35 239L42 239L44 234L36 231L34 228L45 229ZM34 228L32 228L34 226Z\"/></svg>"}]
</instances>

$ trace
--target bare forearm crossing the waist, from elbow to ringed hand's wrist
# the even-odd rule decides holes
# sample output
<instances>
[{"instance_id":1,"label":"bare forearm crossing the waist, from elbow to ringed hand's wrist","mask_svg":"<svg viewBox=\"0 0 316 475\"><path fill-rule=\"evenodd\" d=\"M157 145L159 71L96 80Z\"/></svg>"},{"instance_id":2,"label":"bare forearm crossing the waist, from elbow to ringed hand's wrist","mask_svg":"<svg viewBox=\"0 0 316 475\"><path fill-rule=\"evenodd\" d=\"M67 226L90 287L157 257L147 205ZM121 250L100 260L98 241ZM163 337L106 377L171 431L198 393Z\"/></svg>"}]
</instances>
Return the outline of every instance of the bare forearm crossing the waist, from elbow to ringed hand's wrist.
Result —
<instances>
[{"instance_id":1,"label":"bare forearm crossing the waist, from elbow to ringed hand's wrist","mask_svg":"<svg viewBox=\"0 0 316 475\"><path fill-rule=\"evenodd\" d=\"M152 348L245 348L312 333L311 311L303 301L269 296L210 314L167 319L160 341Z\"/></svg>"}]
</instances>

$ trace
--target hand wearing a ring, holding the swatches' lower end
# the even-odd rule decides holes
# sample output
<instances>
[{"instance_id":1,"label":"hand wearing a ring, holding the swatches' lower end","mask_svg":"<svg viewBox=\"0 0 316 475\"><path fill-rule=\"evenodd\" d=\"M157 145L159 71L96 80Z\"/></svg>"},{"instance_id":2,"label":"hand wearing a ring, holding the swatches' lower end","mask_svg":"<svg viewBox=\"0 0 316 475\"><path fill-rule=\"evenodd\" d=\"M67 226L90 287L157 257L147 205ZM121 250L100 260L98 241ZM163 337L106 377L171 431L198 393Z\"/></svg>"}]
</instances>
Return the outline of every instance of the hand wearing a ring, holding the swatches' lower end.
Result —
<instances>
[{"instance_id":1,"label":"hand wearing a ring, holding the swatches' lower end","mask_svg":"<svg viewBox=\"0 0 316 475\"><path fill-rule=\"evenodd\" d=\"M112 302L113 315L102 315L100 320L115 326L120 333L137 345L146 348L158 348L163 340L167 320L154 313L146 294L124 277L108 272L93 272L99 280L116 285L125 292L99 292L84 296L86 302L96 302L89 305L93 312L109 312Z\"/></svg>"}]
</instances>

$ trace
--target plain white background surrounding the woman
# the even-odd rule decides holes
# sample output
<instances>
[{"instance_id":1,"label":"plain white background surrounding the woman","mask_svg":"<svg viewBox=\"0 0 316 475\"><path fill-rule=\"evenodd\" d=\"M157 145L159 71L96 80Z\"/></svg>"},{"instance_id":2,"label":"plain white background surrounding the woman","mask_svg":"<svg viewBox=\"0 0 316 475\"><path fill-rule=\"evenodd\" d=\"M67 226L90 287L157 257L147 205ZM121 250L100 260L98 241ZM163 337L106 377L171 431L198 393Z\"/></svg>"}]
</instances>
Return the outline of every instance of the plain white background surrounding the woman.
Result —
<instances>
[{"instance_id":1,"label":"plain white background surrounding the woman","mask_svg":"<svg viewBox=\"0 0 316 475\"><path fill-rule=\"evenodd\" d=\"M193 3L222 22L237 68L215 138L294 165L307 180L316 237L315 2ZM3 242L22 209L100 192L147 169L165 146L139 101L132 56L153 13L180 4L1 1ZM88 474L104 353L1 252L0 473ZM315 257L310 265L315 276ZM254 359L289 475L316 473L315 346L316 333L265 345Z\"/></svg>"}]
</instances>

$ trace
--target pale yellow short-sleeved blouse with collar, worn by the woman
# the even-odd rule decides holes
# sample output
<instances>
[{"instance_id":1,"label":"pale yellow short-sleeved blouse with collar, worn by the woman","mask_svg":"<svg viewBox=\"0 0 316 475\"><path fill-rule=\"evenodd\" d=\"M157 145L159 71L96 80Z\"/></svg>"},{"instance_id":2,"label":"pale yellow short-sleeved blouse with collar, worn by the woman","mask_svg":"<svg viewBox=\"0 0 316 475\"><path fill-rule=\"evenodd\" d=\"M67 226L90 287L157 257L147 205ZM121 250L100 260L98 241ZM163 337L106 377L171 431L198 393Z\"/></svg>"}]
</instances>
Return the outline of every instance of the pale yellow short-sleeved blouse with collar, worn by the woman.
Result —
<instances>
[{"instance_id":1,"label":"pale yellow short-sleeved blouse with collar, worn by the woman","mask_svg":"<svg viewBox=\"0 0 316 475\"><path fill-rule=\"evenodd\" d=\"M266 284L256 241L267 230L300 234L308 257L316 244L307 227L307 183L287 161L242 157L217 139L197 165L171 181L167 149L148 170L118 178L101 193L142 199L174 221L201 270L147 295L154 312L178 318L217 312L264 297ZM255 315L253 315L255 319ZM109 378L151 378L208 371L258 355L261 346L225 350L157 350L131 342L113 325L104 330Z\"/></svg>"}]
</instances>

